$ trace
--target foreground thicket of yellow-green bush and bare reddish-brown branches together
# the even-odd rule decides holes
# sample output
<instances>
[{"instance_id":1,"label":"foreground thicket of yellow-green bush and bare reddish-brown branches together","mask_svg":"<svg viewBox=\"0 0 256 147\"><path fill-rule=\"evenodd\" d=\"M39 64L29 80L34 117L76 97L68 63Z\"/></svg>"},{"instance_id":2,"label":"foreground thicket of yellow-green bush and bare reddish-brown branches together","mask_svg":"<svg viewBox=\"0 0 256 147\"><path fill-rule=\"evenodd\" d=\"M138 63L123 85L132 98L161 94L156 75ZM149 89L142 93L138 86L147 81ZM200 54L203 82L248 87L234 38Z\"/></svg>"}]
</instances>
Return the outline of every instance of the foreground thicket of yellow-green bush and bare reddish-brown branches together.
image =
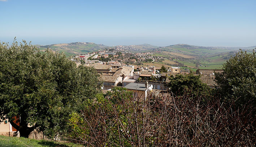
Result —
<instances>
[{"instance_id":1,"label":"foreground thicket of yellow-green bush and bare reddish-brown branches together","mask_svg":"<svg viewBox=\"0 0 256 147\"><path fill-rule=\"evenodd\" d=\"M252 105L235 109L220 98L209 100L188 93L133 99L117 87L71 116L69 139L97 147L255 145Z\"/></svg>"}]
</instances>

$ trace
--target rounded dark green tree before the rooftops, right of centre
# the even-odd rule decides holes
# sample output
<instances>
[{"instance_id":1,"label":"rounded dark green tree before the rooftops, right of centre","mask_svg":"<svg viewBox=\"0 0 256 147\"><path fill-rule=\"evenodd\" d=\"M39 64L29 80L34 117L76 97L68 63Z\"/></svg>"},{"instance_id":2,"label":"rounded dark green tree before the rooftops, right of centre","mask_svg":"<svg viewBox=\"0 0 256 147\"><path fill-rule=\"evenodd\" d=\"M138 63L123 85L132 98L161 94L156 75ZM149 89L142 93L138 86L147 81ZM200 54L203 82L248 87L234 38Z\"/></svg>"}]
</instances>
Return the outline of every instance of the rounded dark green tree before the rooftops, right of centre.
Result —
<instances>
[{"instance_id":1,"label":"rounded dark green tree before the rooftops, right of centre","mask_svg":"<svg viewBox=\"0 0 256 147\"><path fill-rule=\"evenodd\" d=\"M200 75L193 75L192 73L177 74L175 77L171 75L169 81L166 87L170 88L175 95L184 95L186 91L190 91L190 94L197 96L211 95L211 88L200 80Z\"/></svg>"}]
</instances>

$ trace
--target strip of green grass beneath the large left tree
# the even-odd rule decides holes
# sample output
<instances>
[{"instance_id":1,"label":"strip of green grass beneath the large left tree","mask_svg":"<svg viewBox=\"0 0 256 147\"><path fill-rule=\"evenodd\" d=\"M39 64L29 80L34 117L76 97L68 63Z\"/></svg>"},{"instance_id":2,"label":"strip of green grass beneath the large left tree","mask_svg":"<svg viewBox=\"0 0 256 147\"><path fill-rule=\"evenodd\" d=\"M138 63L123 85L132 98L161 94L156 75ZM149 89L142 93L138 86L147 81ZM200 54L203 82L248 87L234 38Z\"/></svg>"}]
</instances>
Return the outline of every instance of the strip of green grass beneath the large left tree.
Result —
<instances>
[{"instance_id":1,"label":"strip of green grass beneath the large left tree","mask_svg":"<svg viewBox=\"0 0 256 147\"><path fill-rule=\"evenodd\" d=\"M59 143L55 141L35 140L23 137L0 135L0 147L82 147L79 144Z\"/></svg>"}]
</instances>

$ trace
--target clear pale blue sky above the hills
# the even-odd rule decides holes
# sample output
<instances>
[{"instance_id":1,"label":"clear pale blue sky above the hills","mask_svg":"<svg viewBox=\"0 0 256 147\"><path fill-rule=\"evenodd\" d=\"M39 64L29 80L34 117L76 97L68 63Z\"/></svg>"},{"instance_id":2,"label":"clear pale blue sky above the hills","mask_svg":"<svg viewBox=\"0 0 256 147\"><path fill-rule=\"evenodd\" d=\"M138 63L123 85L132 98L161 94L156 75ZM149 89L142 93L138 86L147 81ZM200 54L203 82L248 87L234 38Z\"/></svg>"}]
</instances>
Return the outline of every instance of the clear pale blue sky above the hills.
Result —
<instances>
[{"instance_id":1,"label":"clear pale blue sky above the hills","mask_svg":"<svg viewBox=\"0 0 256 147\"><path fill-rule=\"evenodd\" d=\"M0 41L255 46L256 0L0 0Z\"/></svg>"}]
</instances>

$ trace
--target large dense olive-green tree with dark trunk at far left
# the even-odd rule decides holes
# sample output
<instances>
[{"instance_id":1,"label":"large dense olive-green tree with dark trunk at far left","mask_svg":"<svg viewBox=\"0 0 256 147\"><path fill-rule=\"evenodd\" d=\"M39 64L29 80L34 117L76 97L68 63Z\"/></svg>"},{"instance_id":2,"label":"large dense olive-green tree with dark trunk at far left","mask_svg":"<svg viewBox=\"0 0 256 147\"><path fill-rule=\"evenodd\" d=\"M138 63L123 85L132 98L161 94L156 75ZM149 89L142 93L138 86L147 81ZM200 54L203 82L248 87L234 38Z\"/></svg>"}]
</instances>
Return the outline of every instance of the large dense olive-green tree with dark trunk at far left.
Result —
<instances>
[{"instance_id":1,"label":"large dense olive-green tree with dark trunk at far left","mask_svg":"<svg viewBox=\"0 0 256 147\"><path fill-rule=\"evenodd\" d=\"M77 67L64 54L40 52L25 41L9 48L0 44L0 118L9 119L22 137L34 129L60 133L69 114L94 97L99 83L95 69Z\"/></svg>"}]
</instances>

